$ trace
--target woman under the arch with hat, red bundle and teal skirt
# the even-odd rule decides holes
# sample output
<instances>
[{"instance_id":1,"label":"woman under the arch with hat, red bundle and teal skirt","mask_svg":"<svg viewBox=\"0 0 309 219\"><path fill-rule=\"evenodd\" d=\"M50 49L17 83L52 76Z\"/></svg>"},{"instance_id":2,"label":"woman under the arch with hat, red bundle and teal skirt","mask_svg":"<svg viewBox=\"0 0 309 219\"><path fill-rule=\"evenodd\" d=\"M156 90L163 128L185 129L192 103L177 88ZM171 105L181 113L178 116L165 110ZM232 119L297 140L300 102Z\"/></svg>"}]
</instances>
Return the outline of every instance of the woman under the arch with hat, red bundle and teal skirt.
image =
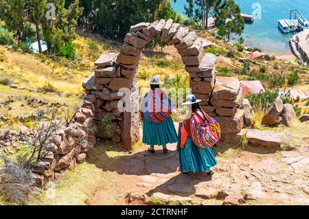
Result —
<instances>
[{"instance_id":1,"label":"woman under the arch with hat, red bundle and teal skirt","mask_svg":"<svg viewBox=\"0 0 309 219\"><path fill-rule=\"evenodd\" d=\"M155 153L155 145L163 146L163 152L167 153L166 144L178 141L171 117L171 102L160 89L160 84L163 82L160 82L159 78L152 77L148 84L150 91L146 93L141 103L143 143L150 146L148 151L151 153Z\"/></svg>"}]
</instances>

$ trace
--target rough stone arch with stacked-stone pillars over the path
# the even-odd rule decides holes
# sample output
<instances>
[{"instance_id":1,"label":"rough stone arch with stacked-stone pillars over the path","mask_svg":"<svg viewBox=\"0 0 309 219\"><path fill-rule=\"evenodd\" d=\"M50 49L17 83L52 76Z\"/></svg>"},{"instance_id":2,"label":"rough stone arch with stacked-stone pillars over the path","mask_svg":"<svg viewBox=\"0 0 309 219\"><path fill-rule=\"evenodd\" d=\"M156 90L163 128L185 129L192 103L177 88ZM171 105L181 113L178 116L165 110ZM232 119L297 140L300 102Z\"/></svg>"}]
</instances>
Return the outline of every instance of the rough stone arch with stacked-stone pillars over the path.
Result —
<instances>
[{"instance_id":1,"label":"rough stone arch with stacked-stone pillars over the path","mask_svg":"<svg viewBox=\"0 0 309 219\"><path fill-rule=\"evenodd\" d=\"M95 61L97 67L95 73L83 82L88 94L85 100L95 99L91 105L89 102L87 104L94 112L93 119L98 127L96 135L115 142L121 141L128 150L139 140L139 113L135 111L120 113L117 104L122 96L117 95L117 91L124 87L130 89L131 106L137 104L139 98L136 73L139 58L141 51L154 38L160 38L168 45L176 47L185 70L190 74L192 93L203 100L201 102L203 109L217 117L219 122L219 115L222 115L224 116L222 122L231 123L225 132L229 134L240 132L243 125L243 111L236 113L236 108L241 102L240 82L237 78L232 80L221 78L220 87L214 92L216 56L205 54L207 43L198 38L195 32L190 32L187 27L181 27L172 19L168 21L161 19L154 23L138 23L131 26L119 54L109 53L100 56ZM212 102L211 95L214 97ZM101 120L106 115L111 117L111 124L115 127L113 135L107 135L106 127L102 124Z\"/></svg>"}]
</instances>

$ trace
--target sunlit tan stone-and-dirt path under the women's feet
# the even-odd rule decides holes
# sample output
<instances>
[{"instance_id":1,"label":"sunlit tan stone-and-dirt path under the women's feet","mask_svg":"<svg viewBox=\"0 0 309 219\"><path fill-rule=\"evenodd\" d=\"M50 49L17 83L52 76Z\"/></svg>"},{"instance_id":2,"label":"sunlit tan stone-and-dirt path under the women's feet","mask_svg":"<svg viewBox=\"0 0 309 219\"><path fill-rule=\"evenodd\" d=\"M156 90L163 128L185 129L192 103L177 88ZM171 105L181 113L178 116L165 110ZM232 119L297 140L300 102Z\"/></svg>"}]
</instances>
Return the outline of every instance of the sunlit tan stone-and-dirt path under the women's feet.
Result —
<instances>
[{"instance_id":1,"label":"sunlit tan stone-and-dirt path under the women's feet","mask_svg":"<svg viewBox=\"0 0 309 219\"><path fill-rule=\"evenodd\" d=\"M163 154L149 154L146 147L123 157L114 157L103 168L108 173L108 185L102 185L89 196L89 205L146 203L192 203L221 205L225 196L236 198L245 205L280 204L309 205L309 139L293 151L247 146L244 150L220 145L214 148L218 165L216 174L179 172L176 146ZM144 194L146 197L142 201Z\"/></svg>"}]
</instances>

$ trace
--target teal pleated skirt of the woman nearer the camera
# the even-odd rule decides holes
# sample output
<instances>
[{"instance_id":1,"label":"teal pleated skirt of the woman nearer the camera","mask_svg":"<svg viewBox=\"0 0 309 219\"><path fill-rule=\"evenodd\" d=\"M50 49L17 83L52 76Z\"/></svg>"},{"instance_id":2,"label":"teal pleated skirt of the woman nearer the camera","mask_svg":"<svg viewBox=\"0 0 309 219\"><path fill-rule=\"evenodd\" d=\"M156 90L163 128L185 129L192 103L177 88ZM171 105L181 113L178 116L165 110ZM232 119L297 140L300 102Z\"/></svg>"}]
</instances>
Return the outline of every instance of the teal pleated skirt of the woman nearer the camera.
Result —
<instances>
[{"instance_id":1,"label":"teal pleated skirt of the woman nearer the camera","mask_svg":"<svg viewBox=\"0 0 309 219\"><path fill-rule=\"evenodd\" d=\"M185 141L185 147L179 148L181 172L206 172L217 164L212 148L196 146L190 137Z\"/></svg>"}]
</instances>

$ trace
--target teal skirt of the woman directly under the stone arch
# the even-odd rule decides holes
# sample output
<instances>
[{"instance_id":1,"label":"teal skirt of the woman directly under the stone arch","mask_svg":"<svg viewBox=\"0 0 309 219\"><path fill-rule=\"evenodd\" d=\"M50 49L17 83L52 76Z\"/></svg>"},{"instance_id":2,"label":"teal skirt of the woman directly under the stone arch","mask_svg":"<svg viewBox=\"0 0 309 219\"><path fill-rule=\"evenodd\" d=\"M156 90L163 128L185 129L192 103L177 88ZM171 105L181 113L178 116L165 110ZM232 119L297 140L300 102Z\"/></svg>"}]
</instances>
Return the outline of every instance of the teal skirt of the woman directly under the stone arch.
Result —
<instances>
[{"instance_id":1,"label":"teal skirt of the woman directly under the stone arch","mask_svg":"<svg viewBox=\"0 0 309 219\"><path fill-rule=\"evenodd\" d=\"M143 119L143 143L150 146L165 146L178 141L172 117L159 124Z\"/></svg>"}]
</instances>

